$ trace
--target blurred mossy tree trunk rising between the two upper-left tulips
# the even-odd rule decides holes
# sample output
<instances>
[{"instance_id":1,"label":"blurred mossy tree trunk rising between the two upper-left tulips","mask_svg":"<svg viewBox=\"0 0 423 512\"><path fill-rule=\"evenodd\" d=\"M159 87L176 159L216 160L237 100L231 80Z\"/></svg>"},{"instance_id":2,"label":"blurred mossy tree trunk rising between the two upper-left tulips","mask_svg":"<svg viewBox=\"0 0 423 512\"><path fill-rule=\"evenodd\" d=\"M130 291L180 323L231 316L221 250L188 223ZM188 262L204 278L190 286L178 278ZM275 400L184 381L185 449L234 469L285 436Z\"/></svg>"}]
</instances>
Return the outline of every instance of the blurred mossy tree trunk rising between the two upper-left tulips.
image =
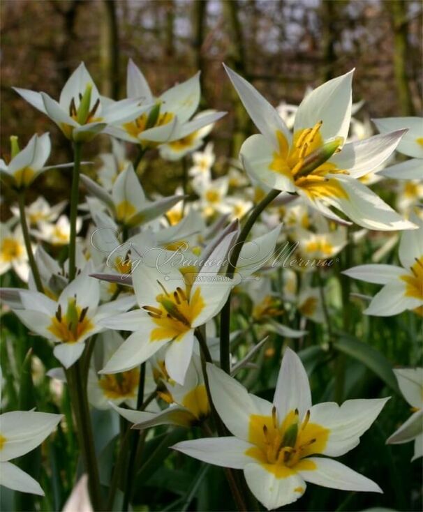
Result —
<instances>
[{"instance_id":1,"label":"blurred mossy tree trunk rising between the two upper-left tulips","mask_svg":"<svg viewBox=\"0 0 423 512\"><path fill-rule=\"evenodd\" d=\"M119 33L116 3L101 2L100 27L101 93L117 100L119 98Z\"/></svg>"}]
</instances>

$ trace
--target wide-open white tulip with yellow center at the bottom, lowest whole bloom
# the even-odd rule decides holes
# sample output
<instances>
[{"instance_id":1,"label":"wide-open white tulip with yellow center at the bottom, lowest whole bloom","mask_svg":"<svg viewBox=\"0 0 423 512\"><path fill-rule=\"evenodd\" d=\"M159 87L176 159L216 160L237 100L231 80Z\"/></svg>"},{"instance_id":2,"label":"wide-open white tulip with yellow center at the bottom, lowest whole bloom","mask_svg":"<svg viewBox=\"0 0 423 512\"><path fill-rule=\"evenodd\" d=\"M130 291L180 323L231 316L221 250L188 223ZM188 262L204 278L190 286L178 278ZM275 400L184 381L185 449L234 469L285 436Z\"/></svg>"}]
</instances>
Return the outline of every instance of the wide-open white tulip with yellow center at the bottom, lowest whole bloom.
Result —
<instances>
[{"instance_id":1,"label":"wide-open white tulip with yellow center at the bottom, lowest whole bloom","mask_svg":"<svg viewBox=\"0 0 423 512\"><path fill-rule=\"evenodd\" d=\"M173 449L210 464L243 469L251 492L269 510L297 501L306 482L382 492L373 481L327 456L357 446L387 398L312 406L306 372L290 349L283 356L273 403L249 394L216 366L207 364L207 375L214 407L233 437L183 441Z\"/></svg>"}]
</instances>

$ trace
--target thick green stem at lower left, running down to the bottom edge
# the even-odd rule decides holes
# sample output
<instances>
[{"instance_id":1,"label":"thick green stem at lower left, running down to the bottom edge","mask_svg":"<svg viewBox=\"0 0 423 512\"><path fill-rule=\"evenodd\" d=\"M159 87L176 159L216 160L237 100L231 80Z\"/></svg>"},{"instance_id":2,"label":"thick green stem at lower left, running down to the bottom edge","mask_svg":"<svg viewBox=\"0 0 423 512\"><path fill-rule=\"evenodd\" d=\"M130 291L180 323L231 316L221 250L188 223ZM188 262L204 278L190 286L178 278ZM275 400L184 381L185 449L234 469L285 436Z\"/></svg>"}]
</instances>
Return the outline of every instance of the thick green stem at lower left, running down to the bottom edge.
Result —
<instances>
[{"instance_id":1,"label":"thick green stem at lower left, running down to the bottom edge","mask_svg":"<svg viewBox=\"0 0 423 512\"><path fill-rule=\"evenodd\" d=\"M85 471L88 474L89 494L94 510L101 511L103 508L101 504L100 477L98 474L96 449L94 446L91 417L89 415L87 402L87 390L82 380L80 360L76 361L70 370L68 370L68 375L70 377L69 384L72 389L73 411L77 421L77 436Z\"/></svg>"}]
</instances>

